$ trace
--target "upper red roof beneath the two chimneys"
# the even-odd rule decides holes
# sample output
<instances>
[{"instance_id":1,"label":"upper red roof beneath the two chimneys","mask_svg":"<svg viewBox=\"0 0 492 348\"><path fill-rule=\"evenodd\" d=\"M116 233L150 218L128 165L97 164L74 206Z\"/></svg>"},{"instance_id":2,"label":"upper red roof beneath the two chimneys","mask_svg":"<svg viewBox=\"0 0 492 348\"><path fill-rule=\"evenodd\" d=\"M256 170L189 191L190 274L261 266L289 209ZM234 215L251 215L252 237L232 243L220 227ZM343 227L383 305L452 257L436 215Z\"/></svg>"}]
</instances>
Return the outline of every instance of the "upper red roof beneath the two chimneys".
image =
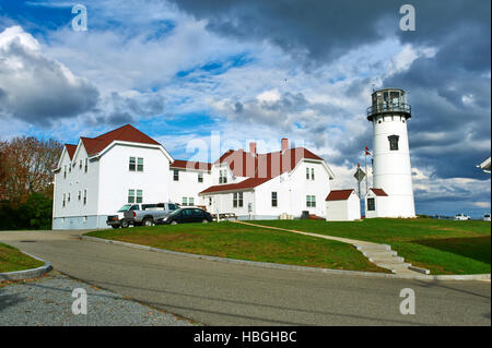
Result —
<instances>
[{"instance_id":1,"label":"upper red roof beneath the two chimneys","mask_svg":"<svg viewBox=\"0 0 492 348\"><path fill-rule=\"evenodd\" d=\"M296 147L268 154L230 149L215 164L227 164L236 177L271 179L291 171L303 158L324 160L304 147Z\"/></svg>"}]
</instances>

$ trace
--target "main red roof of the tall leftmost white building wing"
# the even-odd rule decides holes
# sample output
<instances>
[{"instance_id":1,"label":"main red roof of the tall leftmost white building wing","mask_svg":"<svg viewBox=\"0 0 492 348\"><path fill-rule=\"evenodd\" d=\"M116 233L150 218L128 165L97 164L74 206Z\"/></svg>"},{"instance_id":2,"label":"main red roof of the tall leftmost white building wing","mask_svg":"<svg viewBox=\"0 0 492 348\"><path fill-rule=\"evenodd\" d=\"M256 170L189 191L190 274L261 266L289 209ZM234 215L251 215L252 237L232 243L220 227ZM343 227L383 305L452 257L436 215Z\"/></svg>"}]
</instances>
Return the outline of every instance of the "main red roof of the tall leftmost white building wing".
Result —
<instances>
[{"instance_id":1,"label":"main red roof of the tall leftmost white building wing","mask_svg":"<svg viewBox=\"0 0 492 348\"><path fill-rule=\"evenodd\" d=\"M93 156L105 149L110 143L116 140L131 143L143 143L152 145L161 145L152 137L143 134L138 129L130 124L120 127L114 131L104 133L96 137L83 137L81 136L87 155Z\"/></svg>"}]
</instances>

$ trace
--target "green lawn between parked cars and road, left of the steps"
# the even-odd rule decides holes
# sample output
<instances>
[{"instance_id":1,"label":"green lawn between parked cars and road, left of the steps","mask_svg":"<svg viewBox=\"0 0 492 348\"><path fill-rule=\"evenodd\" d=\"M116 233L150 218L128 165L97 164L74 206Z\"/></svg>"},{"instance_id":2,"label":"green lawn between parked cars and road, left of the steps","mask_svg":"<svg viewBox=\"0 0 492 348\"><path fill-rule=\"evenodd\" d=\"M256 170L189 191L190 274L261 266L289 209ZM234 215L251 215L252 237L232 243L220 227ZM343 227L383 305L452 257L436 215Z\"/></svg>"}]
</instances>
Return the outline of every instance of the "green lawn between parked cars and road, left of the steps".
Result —
<instances>
[{"instance_id":1,"label":"green lawn between parked cars and road, left of the steps","mask_svg":"<svg viewBox=\"0 0 492 348\"><path fill-rule=\"evenodd\" d=\"M238 260L388 272L370 263L347 243L226 221L99 230L86 236Z\"/></svg>"}]
</instances>

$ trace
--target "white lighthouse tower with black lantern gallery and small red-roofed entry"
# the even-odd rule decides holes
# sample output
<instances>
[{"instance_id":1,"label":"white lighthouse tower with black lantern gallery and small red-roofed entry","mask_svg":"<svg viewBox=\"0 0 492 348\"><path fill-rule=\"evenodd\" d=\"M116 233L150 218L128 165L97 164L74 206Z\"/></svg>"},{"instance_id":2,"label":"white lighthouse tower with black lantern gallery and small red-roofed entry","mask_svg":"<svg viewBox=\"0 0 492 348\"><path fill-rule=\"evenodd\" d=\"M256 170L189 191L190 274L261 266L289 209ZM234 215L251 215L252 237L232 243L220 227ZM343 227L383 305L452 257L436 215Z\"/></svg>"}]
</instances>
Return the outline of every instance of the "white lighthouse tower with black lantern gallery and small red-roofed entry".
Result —
<instances>
[{"instance_id":1,"label":"white lighthouse tower with black lantern gallery and small red-roofed entry","mask_svg":"<svg viewBox=\"0 0 492 348\"><path fill-rule=\"evenodd\" d=\"M373 185L366 194L367 217L414 217L407 121L411 107L399 88L373 93L367 120L373 123ZM377 204L375 204L377 202Z\"/></svg>"}]
</instances>

